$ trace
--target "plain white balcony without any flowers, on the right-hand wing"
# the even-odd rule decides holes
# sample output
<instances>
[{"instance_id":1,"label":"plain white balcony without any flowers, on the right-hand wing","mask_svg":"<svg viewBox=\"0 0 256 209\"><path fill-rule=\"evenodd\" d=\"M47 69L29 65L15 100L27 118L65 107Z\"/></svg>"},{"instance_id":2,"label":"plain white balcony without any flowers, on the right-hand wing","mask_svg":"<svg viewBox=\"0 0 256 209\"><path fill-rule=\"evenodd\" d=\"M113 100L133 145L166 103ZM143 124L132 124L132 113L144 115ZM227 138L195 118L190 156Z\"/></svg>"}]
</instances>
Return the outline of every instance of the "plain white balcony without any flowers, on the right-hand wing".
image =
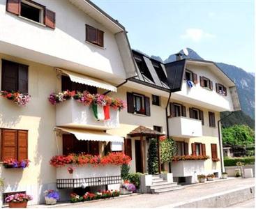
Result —
<instances>
[{"instance_id":1,"label":"plain white balcony without any flowers, on the right-hand wing","mask_svg":"<svg viewBox=\"0 0 256 209\"><path fill-rule=\"evenodd\" d=\"M169 118L169 132L172 137L202 137L202 122L193 118Z\"/></svg>"}]
</instances>

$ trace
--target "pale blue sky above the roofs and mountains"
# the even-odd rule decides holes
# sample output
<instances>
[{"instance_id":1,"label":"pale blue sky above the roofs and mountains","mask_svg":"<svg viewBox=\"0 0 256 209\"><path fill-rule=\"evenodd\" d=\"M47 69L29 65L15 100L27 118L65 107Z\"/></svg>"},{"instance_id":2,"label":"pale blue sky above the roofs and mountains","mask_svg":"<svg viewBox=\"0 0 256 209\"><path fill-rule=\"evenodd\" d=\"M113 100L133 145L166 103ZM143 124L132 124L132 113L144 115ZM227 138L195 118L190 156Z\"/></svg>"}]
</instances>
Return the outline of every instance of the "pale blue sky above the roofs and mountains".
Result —
<instances>
[{"instance_id":1,"label":"pale blue sky above the roofs and mountains","mask_svg":"<svg viewBox=\"0 0 256 209\"><path fill-rule=\"evenodd\" d=\"M189 47L255 72L253 0L92 0L128 31L133 49L160 56Z\"/></svg>"}]
</instances>

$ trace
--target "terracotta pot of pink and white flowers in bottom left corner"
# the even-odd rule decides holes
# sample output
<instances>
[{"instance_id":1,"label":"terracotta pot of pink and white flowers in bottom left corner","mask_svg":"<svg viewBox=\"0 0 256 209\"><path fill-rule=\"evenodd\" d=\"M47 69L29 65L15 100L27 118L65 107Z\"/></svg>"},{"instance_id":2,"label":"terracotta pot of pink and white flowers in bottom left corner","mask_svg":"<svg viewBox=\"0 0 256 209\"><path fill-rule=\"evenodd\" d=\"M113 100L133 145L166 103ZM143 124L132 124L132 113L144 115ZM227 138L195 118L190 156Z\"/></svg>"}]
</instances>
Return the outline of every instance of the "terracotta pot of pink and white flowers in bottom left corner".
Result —
<instances>
[{"instance_id":1,"label":"terracotta pot of pink and white flowers in bottom left corner","mask_svg":"<svg viewBox=\"0 0 256 209\"><path fill-rule=\"evenodd\" d=\"M6 197L9 208L27 208L27 203L31 200L32 196L24 193L10 194Z\"/></svg>"}]
</instances>

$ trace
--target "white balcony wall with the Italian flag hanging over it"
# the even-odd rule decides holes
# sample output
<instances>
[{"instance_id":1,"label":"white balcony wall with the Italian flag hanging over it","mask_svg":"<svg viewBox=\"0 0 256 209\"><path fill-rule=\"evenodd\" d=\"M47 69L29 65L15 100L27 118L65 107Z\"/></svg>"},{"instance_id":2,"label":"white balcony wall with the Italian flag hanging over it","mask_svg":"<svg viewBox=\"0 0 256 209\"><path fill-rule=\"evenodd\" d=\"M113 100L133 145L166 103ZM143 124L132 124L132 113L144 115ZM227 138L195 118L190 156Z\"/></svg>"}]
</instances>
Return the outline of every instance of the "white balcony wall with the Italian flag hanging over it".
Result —
<instances>
[{"instance_id":1,"label":"white balcony wall with the Italian flag hanging over it","mask_svg":"<svg viewBox=\"0 0 256 209\"><path fill-rule=\"evenodd\" d=\"M61 127L77 127L92 130L107 130L119 127L119 111L110 108L110 119L97 121L90 106L75 100L67 100L57 104L56 125Z\"/></svg>"}]
</instances>

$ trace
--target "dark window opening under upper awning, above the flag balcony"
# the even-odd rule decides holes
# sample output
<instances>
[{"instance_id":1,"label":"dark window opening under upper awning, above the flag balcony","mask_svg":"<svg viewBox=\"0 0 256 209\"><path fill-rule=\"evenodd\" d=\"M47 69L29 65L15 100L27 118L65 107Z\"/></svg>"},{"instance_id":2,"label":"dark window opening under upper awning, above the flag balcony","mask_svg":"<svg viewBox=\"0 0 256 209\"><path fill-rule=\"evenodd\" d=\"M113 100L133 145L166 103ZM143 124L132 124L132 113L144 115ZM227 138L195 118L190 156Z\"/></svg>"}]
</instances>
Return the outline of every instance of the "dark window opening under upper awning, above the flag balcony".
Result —
<instances>
[{"instance_id":1,"label":"dark window opening under upper awning, above the flag balcony","mask_svg":"<svg viewBox=\"0 0 256 209\"><path fill-rule=\"evenodd\" d=\"M70 77L68 76L61 76L61 90L62 91L89 91L89 93L97 93L97 88L94 86L87 86L85 84L79 84L72 82Z\"/></svg>"}]
</instances>

